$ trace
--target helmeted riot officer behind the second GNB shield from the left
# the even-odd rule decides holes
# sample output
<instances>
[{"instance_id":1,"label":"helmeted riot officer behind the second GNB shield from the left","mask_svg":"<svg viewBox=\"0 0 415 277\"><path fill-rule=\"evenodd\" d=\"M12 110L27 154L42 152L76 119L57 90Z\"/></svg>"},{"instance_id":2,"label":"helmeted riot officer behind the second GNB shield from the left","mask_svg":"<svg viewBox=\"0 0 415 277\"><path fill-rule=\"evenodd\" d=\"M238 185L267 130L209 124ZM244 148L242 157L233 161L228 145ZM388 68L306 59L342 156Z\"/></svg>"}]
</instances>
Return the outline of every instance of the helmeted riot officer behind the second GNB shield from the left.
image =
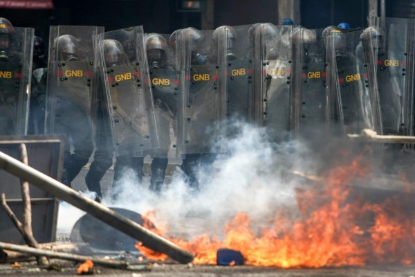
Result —
<instances>
[{"instance_id":1,"label":"helmeted riot officer behind the second GNB shield from the left","mask_svg":"<svg viewBox=\"0 0 415 277\"><path fill-rule=\"evenodd\" d=\"M66 66L69 66L71 62L88 64L86 61L80 60L80 42L73 35L57 37L54 42L54 51L57 52L57 61L62 62L61 66L66 63ZM61 78L62 87L54 87L53 91L51 90L53 88L49 87L48 93L50 95L46 96L46 88L51 84L48 82L48 70L44 71L35 93L41 107L48 106L50 110L56 111L55 114L50 114L46 132L66 134L62 182L71 186L71 181L88 163L93 152L91 114L89 114L91 109L89 97L91 95L86 84L79 84L78 80ZM53 81L50 80L50 82ZM64 84L65 81L68 81L68 84ZM71 153L69 138L72 141L73 153Z\"/></svg>"}]
</instances>

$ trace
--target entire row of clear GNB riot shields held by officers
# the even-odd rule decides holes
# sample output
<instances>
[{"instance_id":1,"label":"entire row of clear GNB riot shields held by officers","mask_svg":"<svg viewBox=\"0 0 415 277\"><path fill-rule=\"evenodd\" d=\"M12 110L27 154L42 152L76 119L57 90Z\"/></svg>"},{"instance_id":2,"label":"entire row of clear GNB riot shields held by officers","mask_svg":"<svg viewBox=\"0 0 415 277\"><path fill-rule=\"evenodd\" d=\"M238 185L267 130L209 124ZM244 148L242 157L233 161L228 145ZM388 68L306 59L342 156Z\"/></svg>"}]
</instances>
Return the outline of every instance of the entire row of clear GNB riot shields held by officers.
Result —
<instances>
[{"instance_id":1,"label":"entire row of clear GNB riot shields held by officers","mask_svg":"<svg viewBox=\"0 0 415 277\"><path fill-rule=\"evenodd\" d=\"M264 127L277 143L365 128L413 136L414 22L375 18L355 30L263 23L172 34L52 26L48 70L35 93L46 134L68 139L68 183L98 145L111 157L185 161L226 152L224 141L239 131L235 122ZM1 129L27 134L33 29L5 30Z\"/></svg>"}]
</instances>

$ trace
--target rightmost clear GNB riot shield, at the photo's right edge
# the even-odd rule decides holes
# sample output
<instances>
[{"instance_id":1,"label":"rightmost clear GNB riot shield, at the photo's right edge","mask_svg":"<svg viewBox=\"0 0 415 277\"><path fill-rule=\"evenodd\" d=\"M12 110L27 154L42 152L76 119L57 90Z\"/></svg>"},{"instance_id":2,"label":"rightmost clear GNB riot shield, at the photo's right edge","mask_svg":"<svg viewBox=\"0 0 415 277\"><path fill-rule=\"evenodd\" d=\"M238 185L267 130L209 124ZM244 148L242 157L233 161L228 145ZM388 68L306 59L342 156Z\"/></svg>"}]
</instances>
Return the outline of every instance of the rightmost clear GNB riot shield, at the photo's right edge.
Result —
<instances>
[{"instance_id":1,"label":"rightmost clear GNB riot shield, at the photo's right edge","mask_svg":"<svg viewBox=\"0 0 415 277\"><path fill-rule=\"evenodd\" d=\"M414 24L414 19L375 18L363 36L376 73L383 134L414 135Z\"/></svg>"}]
</instances>

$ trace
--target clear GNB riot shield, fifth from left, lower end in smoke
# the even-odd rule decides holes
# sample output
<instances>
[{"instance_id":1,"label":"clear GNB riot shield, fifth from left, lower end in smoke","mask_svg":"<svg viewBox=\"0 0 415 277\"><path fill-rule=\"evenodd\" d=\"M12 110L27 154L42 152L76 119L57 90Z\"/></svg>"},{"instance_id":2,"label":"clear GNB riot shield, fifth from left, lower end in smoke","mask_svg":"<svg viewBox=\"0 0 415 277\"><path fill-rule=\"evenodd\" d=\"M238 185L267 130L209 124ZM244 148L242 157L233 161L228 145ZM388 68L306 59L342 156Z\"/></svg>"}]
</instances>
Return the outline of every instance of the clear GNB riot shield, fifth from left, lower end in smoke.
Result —
<instances>
[{"instance_id":1,"label":"clear GNB riot shield, fifth from left, lower end in smoke","mask_svg":"<svg viewBox=\"0 0 415 277\"><path fill-rule=\"evenodd\" d=\"M212 30L182 30L176 46L181 57L183 154L221 152L221 83Z\"/></svg>"}]
</instances>

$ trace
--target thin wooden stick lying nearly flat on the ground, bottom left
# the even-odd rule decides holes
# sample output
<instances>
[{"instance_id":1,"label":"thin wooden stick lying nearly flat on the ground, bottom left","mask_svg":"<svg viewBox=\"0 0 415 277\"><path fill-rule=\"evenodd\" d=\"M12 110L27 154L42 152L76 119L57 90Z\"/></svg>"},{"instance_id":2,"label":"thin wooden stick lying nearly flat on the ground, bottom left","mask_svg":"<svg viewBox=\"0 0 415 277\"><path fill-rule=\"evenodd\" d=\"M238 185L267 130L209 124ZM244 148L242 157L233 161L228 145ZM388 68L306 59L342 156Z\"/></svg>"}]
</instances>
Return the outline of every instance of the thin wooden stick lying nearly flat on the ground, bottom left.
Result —
<instances>
[{"instance_id":1,"label":"thin wooden stick lying nearly flat on the ground, bottom left","mask_svg":"<svg viewBox=\"0 0 415 277\"><path fill-rule=\"evenodd\" d=\"M85 260L92 260L97 265L104 265L107 267L113 267L117 269L127 269L127 267L129 266L128 262L123 262L119 260L105 260L102 258L82 256L82 255L71 254L71 253L63 253L63 252L50 251L50 250L44 250L44 249L35 249L33 247L26 247L23 245L6 243L6 242L0 242L0 249L17 251L21 253L29 253L34 256L47 256L49 258L57 258L57 259L62 259L62 260L73 260L75 262L84 262Z\"/></svg>"}]
</instances>

